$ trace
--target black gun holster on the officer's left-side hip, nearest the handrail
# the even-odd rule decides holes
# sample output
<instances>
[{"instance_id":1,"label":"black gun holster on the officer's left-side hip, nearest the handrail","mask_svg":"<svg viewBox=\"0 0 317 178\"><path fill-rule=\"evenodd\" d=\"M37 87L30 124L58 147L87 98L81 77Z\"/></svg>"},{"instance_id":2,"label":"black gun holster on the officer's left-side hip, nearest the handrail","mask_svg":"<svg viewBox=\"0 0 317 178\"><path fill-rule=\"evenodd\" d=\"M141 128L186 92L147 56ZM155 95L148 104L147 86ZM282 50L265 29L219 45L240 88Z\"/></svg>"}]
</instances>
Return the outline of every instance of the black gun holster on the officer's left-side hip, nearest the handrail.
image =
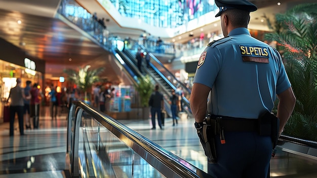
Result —
<instances>
[{"instance_id":1,"label":"black gun holster on the officer's left-side hip, nearest the handrail","mask_svg":"<svg viewBox=\"0 0 317 178\"><path fill-rule=\"evenodd\" d=\"M215 127L211 125L211 119L206 118L203 127L197 129L197 135L200 138L209 163L217 162L214 128Z\"/></svg>"}]
</instances>

